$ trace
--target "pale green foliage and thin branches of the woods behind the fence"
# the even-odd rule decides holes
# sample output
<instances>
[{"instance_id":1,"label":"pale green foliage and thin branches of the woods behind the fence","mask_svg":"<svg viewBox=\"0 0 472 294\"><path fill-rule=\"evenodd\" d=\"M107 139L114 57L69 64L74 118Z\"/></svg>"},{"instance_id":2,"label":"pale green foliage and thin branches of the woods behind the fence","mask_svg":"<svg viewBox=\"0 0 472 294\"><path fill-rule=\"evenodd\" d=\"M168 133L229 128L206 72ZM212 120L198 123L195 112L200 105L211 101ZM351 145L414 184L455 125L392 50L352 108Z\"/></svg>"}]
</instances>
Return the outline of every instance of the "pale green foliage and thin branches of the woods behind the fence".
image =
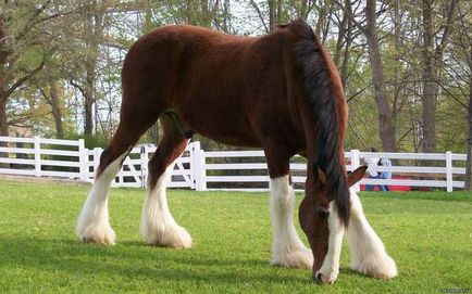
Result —
<instances>
[{"instance_id":1,"label":"pale green foliage and thin branches of the woods behind the fence","mask_svg":"<svg viewBox=\"0 0 472 294\"><path fill-rule=\"evenodd\" d=\"M120 105L120 71L123 57L139 35L169 24L191 24L236 35L263 35L270 23L270 5L275 8L276 23L283 24L307 14L311 26L326 39L336 64L340 67L346 46L339 30L346 22L343 9L332 1L95 1L85 5L71 1L7 1L0 16L8 38L1 48L13 52L1 71L11 67L5 85L12 85L41 62L40 74L24 82L9 98L8 120L13 126L29 128L30 133L54 137L51 106L41 98L48 80L55 80L61 93L61 110L66 137L83 132L84 100L87 95L95 110L94 132L110 138L116 126ZM451 35L438 72L436 111L437 151L465 151L467 105L472 63L470 46L472 14L470 1L459 1ZM346 4L344 4L346 5ZM440 43L447 20L448 1L433 3L436 43ZM305 7L305 8L303 8ZM393 110L399 151L421 151L422 137L422 68L423 25L419 3L388 2L378 12L377 29L385 92ZM364 17L364 4L352 7L357 21ZM398 9L398 16L395 12ZM305 10L305 11L302 11ZM320 17L331 20L320 22ZM399 17L396 20L395 17ZM398 22L398 26L396 26ZM349 99L349 130L347 149L381 148L378 113L371 81L365 35L352 26L352 42L347 63L346 97ZM26 28L29 28L25 30ZM26 31L15 40L14 36ZM436 44L436 47L437 47ZM5 51L7 52L7 51ZM3 72L1 72L3 73ZM74 87L72 87L71 81ZM108 116L108 114L110 114ZM27 132L27 131L26 131ZM14 132L12 132L14 135ZM94 136L92 136L94 137ZM140 142L149 142L149 138ZM90 145L103 145L104 139L87 139ZM222 148L203 141L209 148Z\"/></svg>"}]
</instances>

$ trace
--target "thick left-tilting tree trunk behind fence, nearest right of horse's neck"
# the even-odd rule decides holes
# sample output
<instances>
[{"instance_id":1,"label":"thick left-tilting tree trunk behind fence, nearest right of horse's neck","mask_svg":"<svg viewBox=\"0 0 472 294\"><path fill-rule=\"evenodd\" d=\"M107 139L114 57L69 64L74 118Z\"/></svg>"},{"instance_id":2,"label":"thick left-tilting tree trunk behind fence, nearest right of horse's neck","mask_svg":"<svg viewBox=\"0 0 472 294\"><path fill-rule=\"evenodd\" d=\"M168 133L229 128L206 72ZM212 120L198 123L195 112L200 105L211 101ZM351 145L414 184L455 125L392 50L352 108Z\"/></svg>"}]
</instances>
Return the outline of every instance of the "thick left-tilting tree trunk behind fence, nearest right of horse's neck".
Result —
<instances>
[{"instance_id":1,"label":"thick left-tilting tree trunk behind fence, nearest right of horse's neck","mask_svg":"<svg viewBox=\"0 0 472 294\"><path fill-rule=\"evenodd\" d=\"M367 3L367 39L369 57L372 63L372 81L374 84L374 97L378 111L378 131L382 139L383 150L386 152L396 151L395 129L392 124L392 110L385 93L384 69L378 49L376 30L375 0L368 0Z\"/></svg>"}]
</instances>

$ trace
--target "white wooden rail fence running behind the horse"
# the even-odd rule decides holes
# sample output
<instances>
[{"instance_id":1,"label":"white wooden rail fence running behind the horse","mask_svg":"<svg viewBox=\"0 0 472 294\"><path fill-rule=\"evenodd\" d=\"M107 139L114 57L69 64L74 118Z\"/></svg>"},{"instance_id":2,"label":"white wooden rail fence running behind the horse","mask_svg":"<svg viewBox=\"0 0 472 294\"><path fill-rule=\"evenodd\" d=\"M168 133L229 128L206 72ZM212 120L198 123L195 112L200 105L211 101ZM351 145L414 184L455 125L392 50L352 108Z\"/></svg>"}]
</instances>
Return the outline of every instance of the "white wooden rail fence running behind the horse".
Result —
<instances>
[{"instance_id":1,"label":"white wooden rail fence running behind the horse","mask_svg":"<svg viewBox=\"0 0 472 294\"><path fill-rule=\"evenodd\" d=\"M57 140L0 137L0 174L55 177L94 181L102 149L88 150L84 140ZM123 162L114 187L145 188L148 163L153 145L134 148ZM365 158L394 159L396 165L378 166L377 171L392 171L393 179L363 179L360 184L445 188L448 192L464 187L464 154L446 153L370 153L346 152L347 169L353 170ZM420 166L432 161L434 166ZM306 162L294 157L290 163L293 182L301 189L306 180ZM269 176L262 151L209 151L200 142L191 142L175 163L171 188L203 190L268 190ZM399 178L400 176L400 178ZM359 190L359 184L356 187Z\"/></svg>"}]
</instances>

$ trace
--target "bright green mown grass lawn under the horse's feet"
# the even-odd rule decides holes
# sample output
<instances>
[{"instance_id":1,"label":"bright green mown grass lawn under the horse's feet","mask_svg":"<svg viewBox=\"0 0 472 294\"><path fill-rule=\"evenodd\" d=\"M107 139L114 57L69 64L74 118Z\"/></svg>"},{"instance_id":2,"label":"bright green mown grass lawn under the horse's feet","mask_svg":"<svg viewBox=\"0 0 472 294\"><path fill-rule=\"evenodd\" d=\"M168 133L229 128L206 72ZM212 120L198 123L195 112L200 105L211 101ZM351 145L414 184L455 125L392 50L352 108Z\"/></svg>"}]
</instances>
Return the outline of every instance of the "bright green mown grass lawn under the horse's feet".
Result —
<instances>
[{"instance_id":1,"label":"bright green mown grass lawn under the horse's feet","mask_svg":"<svg viewBox=\"0 0 472 294\"><path fill-rule=\"evenodd\" d=\"M117 245L78 243L74 227L87 191L0 182L0 293L438 293L472 287L472 196L467 193L361 194L399 277L378 281L350 271L345 244L337 282L318 285L310 270L269 266L266 193L171 190L174 217L194 238L192 248L179 251L141 242L144 191L131 189L111 191Z\"/></svg>"}]
</instances>

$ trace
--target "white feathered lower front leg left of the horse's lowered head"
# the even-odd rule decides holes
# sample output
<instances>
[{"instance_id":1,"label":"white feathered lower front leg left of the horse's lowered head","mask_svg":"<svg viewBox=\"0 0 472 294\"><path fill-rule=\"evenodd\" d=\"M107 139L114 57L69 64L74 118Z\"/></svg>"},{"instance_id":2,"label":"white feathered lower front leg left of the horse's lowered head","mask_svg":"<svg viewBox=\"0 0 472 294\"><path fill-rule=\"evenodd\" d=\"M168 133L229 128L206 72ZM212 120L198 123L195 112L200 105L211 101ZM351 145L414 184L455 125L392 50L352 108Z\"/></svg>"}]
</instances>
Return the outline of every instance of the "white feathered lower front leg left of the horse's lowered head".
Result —
<instances>
[{"instance_id":1,"label":"white feathered lower front leg left of the horse's lowered head","mask_svg":"<svg viewBox=\"0 0 472 294\"><path fill-rule=\"evenodd\" d=\"M295 193L288 175L271 179L271 222L273 230L272 265L311 268L313 254L308 250L294 226Z\"/></svg>"}]
</instances>

